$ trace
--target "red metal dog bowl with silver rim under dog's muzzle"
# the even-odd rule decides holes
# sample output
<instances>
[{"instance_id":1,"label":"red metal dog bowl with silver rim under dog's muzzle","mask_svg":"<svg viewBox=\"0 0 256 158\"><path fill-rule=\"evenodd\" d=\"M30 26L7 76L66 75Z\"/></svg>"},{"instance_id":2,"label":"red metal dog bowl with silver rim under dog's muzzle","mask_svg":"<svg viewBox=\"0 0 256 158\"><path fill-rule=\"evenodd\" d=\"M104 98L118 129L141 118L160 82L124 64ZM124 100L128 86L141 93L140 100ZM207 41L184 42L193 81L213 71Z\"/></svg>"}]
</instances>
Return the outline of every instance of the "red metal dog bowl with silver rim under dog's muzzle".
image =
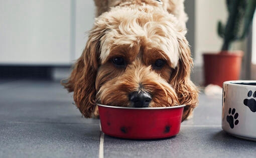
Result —
<instances>
[{"instance_id":1,"label":"red metal dog bowl with silver rim under dog's muzzle","mask_svg":"<svg viewBox=\"0 0 256 158\"><path fill-rule=\"evenodd\" d=\"M184 106L133 108L98 104L101 130L130 139L174 136L180 131Z\"/></svg>"}]
</instances>

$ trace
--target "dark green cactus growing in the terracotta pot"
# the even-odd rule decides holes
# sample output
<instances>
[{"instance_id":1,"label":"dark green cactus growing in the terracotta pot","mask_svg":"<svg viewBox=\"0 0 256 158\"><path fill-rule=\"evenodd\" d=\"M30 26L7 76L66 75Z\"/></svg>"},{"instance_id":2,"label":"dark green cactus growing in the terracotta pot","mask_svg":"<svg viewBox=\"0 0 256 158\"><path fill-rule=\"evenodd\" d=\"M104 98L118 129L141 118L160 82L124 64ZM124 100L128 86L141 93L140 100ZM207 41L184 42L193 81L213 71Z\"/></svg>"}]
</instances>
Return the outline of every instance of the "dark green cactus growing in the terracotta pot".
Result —
<instances>
[{"instance_id":1,"label":"dark green cactus growing in the terracotta pot","mask_svg":"<svg viewBox=\"0 0 256 158\"><path fill-rule=\"evenodd\" d=\"M226 5L226 25L218 22L218 35L223 38L221 51L228 50L232 42L246 37L255 12L256 0L226 0Z\"/></svg>"}]
</instances>

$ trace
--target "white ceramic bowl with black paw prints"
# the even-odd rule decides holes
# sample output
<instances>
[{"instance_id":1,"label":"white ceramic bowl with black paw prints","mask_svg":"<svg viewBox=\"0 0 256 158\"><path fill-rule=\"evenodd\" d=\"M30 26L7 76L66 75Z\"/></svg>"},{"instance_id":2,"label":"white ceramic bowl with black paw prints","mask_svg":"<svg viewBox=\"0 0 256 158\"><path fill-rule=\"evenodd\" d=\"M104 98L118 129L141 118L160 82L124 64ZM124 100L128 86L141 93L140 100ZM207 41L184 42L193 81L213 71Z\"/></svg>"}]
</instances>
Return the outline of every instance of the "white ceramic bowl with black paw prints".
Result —
<instances>
[{"instance_id":1,"label":"white ceramic bowl with black paw prints","mask_svg":"<svg viewBox=\"0 0 256 158\"><path fill-rule=\"evenodd\" d=\"M222 129L256 141L256 81L226 81L222 93Z\"/></svg>"}]
</instances>

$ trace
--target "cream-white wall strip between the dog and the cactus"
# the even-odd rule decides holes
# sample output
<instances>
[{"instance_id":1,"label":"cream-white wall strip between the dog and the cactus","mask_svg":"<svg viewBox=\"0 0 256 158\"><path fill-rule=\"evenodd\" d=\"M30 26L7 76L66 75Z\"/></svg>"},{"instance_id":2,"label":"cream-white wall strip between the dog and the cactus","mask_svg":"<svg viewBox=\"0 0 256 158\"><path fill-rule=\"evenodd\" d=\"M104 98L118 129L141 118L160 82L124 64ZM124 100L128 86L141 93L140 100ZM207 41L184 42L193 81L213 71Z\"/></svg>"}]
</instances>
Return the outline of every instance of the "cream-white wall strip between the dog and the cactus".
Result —
<instances>
[{"instance_id":1,"label":"cream-white wall strip between the dog and the cactus","mask_svg":"<svg viewBox=\"0 0 256 158\"><path fill-rule=\"evenodd\" d=\"M187 0L189 1L189 0ZM203 64L202 54L218 52L222 39L217 34L217 22L226 21L227 9L224 0L195 1L195 65Z\"/></svg>"}]
</instances>

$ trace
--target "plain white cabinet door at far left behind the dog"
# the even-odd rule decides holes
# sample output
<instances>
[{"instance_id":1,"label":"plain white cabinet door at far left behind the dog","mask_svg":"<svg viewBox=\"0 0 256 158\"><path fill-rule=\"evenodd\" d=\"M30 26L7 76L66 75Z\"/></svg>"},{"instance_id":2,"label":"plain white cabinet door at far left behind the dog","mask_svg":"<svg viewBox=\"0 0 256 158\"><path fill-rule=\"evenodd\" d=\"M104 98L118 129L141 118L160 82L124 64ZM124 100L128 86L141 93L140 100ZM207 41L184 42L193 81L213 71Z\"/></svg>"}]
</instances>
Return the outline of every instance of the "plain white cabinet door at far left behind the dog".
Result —
<instances>
[{"instance_id":1,"label":"plain white cabinet door at far left behind the dog","mask_svg":"<svg viewBox=\"0 0 256 158\"><path fill-rule=\"evenodd\" d=\"M0 64L68 64L71 0L0 0Z\"/></svg>"}]
</instances>

